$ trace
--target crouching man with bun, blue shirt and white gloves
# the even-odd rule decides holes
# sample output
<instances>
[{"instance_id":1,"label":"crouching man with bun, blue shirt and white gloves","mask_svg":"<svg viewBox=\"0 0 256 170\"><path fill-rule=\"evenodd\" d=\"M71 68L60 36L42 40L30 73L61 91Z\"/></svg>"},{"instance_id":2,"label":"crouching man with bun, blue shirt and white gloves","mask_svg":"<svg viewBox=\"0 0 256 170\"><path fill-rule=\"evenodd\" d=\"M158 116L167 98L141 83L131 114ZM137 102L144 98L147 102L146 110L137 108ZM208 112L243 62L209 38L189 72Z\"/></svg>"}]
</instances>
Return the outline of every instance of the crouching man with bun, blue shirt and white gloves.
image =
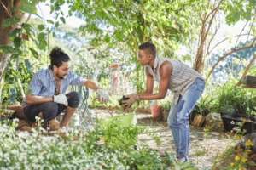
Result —
<instances>
[{"instance_id":1,"label":"crouching man with bun, blue shirt and white gloves","mask_svg":"<svg viewBox=\"0 0 256 170\"><path fill-rule=\"evenodd\" d=\"M86 86L96 90L101 103L108 102L109 96L94 82L85 80L69 71L71 68L70 58L61 48L52 49L49 59L49 67L36 72L32 77L29 84L31 92L22 101L23 113L26 120L32 122L32 127L37 127L35 116L48 122L66 109L60 127L65 127L68 130L67 124L80 102L78 92L64 94L69 85Z\"/></svg>"}]
</instances>

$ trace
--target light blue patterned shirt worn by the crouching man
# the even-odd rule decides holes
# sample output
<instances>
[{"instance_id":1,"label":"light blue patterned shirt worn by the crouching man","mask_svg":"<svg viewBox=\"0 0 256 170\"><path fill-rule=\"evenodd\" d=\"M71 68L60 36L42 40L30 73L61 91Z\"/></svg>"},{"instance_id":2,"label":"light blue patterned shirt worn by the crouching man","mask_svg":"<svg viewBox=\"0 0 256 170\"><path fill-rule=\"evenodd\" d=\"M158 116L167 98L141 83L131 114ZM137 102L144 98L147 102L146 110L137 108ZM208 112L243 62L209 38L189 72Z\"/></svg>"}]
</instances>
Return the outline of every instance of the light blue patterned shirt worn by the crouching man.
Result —
<instances>
[{"instance_id":1,"label":"light blue patterned shirt worn by the crouching man","mask_svg":"<svg viewBox=\"0 0 256 170\"><path fill-rule=\"evenodd\" d=\"M82 86L84 81L85 79L83 77L79 77L77 74L69 71L69 74L66 76L66 78L61 79L60 94L65 93L69 85ZM56 79L52 70L48 67L36 72L33 75L31 82L29 83L29 88L32 90L31 94L42 97L53 96L55 94L55 86ZM27 106L26 96L22 100L21 105L23 107Z\"/></svg>"}]
</instances>

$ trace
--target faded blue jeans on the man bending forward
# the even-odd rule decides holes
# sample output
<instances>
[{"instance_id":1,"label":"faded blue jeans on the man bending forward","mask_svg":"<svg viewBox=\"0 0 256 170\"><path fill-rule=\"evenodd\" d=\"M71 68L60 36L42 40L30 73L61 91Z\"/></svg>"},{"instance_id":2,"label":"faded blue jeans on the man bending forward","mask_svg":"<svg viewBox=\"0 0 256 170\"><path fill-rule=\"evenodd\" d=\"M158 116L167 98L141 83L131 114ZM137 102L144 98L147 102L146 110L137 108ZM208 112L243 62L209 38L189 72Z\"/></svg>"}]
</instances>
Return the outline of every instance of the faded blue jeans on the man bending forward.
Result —
<instances>
[{"instance_id":1,"label":"faded blue jeans on the man bending forward","mask_svg":"<svg viewBox=\"0 0 256 170\"><path fill-rule=\"evenodd\" d=\"M183 96L179 95L177 105L172 102L167 122L172 131L176 156L179 156L180 160L185 158L186 161L189 161L189 114L204 89L205 81L196 78Z\"/></svg>"}]
</instances>

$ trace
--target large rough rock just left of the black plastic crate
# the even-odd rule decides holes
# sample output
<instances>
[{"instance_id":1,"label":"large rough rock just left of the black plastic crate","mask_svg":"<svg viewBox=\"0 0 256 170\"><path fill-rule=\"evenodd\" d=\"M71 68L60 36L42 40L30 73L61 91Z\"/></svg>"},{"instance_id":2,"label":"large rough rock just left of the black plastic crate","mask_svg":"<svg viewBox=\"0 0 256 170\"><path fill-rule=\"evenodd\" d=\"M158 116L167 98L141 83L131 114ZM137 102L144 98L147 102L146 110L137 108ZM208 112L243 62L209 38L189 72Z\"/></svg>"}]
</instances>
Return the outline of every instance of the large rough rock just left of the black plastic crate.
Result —
<instances>
[{"instance_id":1,"label":"large rough rock just left of the black plastic crate","mask_svg":"<svg viewBox=\"0 0 256 170\"><path fill-rule=\"evenodd\" d=\"M203 127L210 126L211 131L213 132L222 132L224 131L224 124L221 118L220 113L209 113L206 116L206 121L203 124Z\"/></svg>"}]
</instances>

